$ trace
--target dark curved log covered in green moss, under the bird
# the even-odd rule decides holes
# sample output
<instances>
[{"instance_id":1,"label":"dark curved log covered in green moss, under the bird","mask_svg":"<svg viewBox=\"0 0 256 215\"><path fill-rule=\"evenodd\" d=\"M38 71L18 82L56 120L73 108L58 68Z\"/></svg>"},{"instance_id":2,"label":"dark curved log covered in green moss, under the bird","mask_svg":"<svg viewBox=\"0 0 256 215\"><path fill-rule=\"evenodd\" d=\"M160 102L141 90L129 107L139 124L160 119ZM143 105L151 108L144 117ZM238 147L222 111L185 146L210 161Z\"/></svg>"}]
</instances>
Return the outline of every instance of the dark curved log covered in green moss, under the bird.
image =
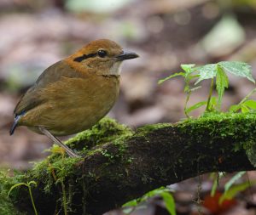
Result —
<instances>
[{"instance_id":1,"label":"dark curved log covered in green moss, under the bird","mask_svg":"<svg viewBox=\"0 0 256 215\"><path fill-rule=\"evenodd\" d=\"M207 114L137 131L104 119L67 141L83 158L58 154L38 163L22 181L40 214L102 214L149 190L202 173L253 170L254 114ZM252 159L251 159L252 160ZM15 180L17 181L17 180ZM26 188L11 194L19 211L32 214Z\"/></svg>"}]
</instances>

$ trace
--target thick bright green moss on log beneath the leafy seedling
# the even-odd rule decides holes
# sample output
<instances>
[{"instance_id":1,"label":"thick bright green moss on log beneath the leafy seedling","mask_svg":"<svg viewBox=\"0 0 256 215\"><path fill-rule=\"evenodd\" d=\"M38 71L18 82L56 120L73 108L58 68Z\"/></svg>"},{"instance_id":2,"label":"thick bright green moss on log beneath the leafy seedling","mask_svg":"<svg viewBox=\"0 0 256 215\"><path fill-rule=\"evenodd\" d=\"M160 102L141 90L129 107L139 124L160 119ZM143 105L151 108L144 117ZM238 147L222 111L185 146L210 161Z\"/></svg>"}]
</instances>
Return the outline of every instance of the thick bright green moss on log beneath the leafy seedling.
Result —
<instances>
[{"instance_id":1,"label":"thick bright green moss on log beneath the leafy seedling","mask_svg":"<svg viewBox=\"0 0 256 215\"><path fill-rule=\"evenodd\" d=\"M185 135L196 137L197 142L203 142L206 135L214 139L230 137L236 141L234 151L246 150L247 155L256 154L253 150L256 147L256 115L253 113L206 113L179 122L177 127Z\"/></svg>"}]
</instances>

